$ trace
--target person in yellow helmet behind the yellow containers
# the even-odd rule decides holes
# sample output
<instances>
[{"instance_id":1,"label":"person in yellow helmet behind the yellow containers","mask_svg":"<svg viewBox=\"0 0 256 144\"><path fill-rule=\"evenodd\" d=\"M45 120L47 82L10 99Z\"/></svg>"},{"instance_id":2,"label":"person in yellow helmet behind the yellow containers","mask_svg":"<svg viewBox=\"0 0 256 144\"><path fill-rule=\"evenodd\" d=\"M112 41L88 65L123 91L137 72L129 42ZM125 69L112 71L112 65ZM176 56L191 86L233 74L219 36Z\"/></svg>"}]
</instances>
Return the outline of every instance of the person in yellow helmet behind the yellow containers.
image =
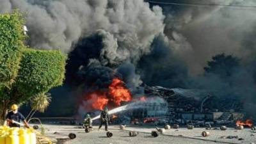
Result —
<instances>
[{"instance_id":1,"label":"person in yellow helmet behind the yellow containers","mask_svg":"<svg viewBox=\"0 0 256 144\"><path fill-rule=\"evenodd\" d=\"M25 124L25 127L29 128L28 122L26 121L26 118L18 111L19 107L17 104L13 104L11 107L12 111L10 111L6 116L6 121L9 127L20 127L19 124L16 124L15 122L23 121Z\"/></svg>"}]
</instances>

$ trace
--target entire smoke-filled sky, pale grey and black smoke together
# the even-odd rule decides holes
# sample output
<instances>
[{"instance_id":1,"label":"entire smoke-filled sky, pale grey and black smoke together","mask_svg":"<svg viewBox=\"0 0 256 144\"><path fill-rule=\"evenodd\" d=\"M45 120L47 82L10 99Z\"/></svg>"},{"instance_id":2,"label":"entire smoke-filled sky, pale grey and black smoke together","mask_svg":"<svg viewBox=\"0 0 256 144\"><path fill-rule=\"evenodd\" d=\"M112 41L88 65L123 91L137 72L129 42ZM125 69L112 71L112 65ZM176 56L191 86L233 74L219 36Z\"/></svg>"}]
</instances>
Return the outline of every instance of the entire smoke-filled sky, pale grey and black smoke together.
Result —
<instances>
[{"instance_id":1,"label":"entire smoke-filled sky, pale grey and black smoke together","mask_svg":"<svg viewBox=\"0 0 256 144\"><path fill-rule=\"evenodd\" d=\"M254 0L161 2L256 6ZM15 9L26 13L29 46L70 54L70 79L73 76L69 75L86 70L93 61L97 68L120 74L132 89L142 81L184 88L201 84L206 89L211 85L205 83L214 83L219 87L213 86L213 90L228 87L227 91L236 93L236 88L243 87L239 77L253 77L253 70L248 69L254 67L256 54L256 8L149 4L143 0L0 0L0 13ZM246 70L233 76L237 82L226 86L221 79L204 77L191 83L189 77L203 74L207 61L221 53L232 54L246 65ZM241 91L249 92L253 99L255 82L243 82L250 90Z\"/></svg>"}]
</instances>

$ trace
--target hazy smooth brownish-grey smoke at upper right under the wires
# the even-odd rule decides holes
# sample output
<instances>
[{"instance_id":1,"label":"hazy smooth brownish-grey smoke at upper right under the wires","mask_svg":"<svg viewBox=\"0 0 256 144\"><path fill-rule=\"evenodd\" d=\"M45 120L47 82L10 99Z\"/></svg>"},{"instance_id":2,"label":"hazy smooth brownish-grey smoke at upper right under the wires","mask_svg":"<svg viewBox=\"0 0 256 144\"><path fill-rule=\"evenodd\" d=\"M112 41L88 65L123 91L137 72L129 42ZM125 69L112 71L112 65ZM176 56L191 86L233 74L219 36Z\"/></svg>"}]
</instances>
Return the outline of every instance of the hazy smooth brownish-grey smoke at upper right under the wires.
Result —
<instances>
[{"instance_id":1,"label":"hazy smooth brownish-grey smoke at upper right under the wires","mask_svg":"<svg viewBox=\"0 0 256 144\"><path fill-rule=\"evenodd\" d=\"M256 5L251 0L190 0L186 3ZM190 74L202 74L206 61L216 54L232 54L243 61L255 59L255 48L246 48L253 44L250 43L253 37L248 35L252 35L255 28L255 8L164 5L163 10L166 15L164 34L170 38L173 52L186 63Z\"/></svg>"}]
</instances>

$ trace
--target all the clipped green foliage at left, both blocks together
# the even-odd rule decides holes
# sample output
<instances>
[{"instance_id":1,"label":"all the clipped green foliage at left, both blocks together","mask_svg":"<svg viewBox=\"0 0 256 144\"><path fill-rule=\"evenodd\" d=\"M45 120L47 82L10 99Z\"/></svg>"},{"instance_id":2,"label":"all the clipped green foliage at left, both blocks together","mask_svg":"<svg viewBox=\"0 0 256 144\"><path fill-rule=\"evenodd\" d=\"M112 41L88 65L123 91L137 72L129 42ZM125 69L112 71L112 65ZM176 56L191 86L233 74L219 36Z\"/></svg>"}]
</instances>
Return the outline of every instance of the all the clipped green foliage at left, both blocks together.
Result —
<instances>
[{"instance_id":1,"label":"all the clipped green foliage at left, both blocks together","mask_svg":"<svg viewBox=\"0 0 256 144\"><path fill-rule=\"evenodd\" d=\"M65 54L26 47L23 26L18 12L0 15L0 122L11 104L44 95L65 78Z\"/></svg>"}]
</instances>

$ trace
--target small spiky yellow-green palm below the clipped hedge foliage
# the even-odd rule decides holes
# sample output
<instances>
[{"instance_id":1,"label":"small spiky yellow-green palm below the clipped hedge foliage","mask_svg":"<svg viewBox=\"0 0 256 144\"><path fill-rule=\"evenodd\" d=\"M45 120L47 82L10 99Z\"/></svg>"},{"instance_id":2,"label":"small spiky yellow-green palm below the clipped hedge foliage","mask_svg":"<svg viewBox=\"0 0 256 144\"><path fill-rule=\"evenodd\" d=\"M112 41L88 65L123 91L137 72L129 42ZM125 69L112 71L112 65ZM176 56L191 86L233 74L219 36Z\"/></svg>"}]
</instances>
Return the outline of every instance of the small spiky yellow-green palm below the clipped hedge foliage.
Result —
<instances>
[{"instance_id":1,"label":"small spiky yellow-green palm below the clipped hedge foliage","mask_svg":"<svg viewBox=\"0 0 256 144\"><path fill-rule=\"evenodd\" d=\"M51 93L40 93L33 97L30 102L32 109L26 118L27 120L32 118L36 111L44 113L45 109L49 106L51 102Z\"/></svg>"}]
</instances>

